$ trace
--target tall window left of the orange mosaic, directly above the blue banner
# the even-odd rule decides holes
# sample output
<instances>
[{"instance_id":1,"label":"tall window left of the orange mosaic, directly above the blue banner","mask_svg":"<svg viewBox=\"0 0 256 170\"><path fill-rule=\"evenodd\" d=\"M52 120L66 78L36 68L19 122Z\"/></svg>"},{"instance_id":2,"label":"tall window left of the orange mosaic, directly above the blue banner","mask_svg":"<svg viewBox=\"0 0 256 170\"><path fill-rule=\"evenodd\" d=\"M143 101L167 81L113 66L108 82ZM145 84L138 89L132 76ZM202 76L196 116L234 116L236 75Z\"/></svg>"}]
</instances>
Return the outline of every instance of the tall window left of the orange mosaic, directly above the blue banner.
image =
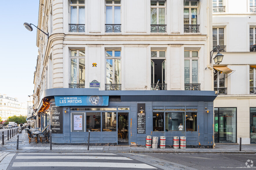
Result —
<instances>
[{"instance_id":1,"label":"tall window left of the orange mosaic, directly above the blue banner","mask_svg":"<svg viewBox=\"0 0 256 170\"><path fill-rule=\"evenodd\" d=\"M85 84L85 51L71 50L71 84Z\"/></svg>"}]
</instances>

